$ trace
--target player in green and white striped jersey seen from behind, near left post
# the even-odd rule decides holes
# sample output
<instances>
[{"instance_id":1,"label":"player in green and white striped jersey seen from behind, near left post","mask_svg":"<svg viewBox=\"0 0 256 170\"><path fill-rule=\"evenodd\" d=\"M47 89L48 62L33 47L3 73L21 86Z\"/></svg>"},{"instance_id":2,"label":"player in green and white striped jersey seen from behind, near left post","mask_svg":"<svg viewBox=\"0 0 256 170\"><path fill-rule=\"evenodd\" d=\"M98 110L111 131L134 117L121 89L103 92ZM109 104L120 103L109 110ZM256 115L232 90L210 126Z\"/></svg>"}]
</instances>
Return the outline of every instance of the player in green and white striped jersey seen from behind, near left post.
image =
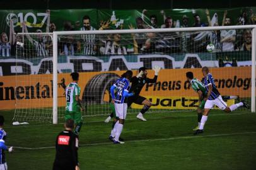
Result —
<instances>
[{"instance_id":1,"label":"player in green and white striped jersey seen from behind, near left post","mask_svg":"<svg viewBox=\"0 0 256 170\"><path fill-rule=\"evenodd\" d=\"M81 105L81 100L79 99L81 88L78 86L79 74L78 72L71 73L73 82L71 82L66 87L66 112L65 120L73 119L76 124L74 133L78 134L83 125L81 111L84 108Z\"/></svg>"}]
</instances>

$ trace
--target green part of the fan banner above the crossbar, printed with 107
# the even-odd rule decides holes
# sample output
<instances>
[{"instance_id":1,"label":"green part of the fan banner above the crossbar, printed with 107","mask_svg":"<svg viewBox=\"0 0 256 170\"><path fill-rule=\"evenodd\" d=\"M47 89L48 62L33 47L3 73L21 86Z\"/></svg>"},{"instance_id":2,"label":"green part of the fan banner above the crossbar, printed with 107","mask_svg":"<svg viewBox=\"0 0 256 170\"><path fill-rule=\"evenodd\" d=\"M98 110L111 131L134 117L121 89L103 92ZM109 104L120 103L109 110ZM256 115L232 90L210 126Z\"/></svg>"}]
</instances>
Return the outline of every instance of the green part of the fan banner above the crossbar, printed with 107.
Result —
<instances>
[{"instance_id":1,"label":"green part of the fan banner above the crossbar, printed with 107","mask_svg":"<svg viewBox=\"0 0 256 170\"><path fill-rule=\"evenodd\" d=\"M173 23L177 20L182 24L182 16L186 15L189 18L189 26L194 23L194 14L201 16L202 23L208 23L206 18L206 9L168 9L163 10L165 16L172 17ZM218 24L221 25L223 20L223 14L225 9L209 9L210 17L214 14L218 14ZM231 8L228 9L227 16L231 17L232 25L238 23L238 18L243 11L247 12L247 20L250 23L251 20L256 21L256 8ZM91 18L91 26L98 29L100 28L101 21L110 21L108 29L129 29L129 25L133 25L136 28L136 18L142 16L142 10L107 10L107 9L60 9L50 11L50 21L55 23L56 30L64 30L64 22L71 21L73 30L79 30L83 26L83 16L88 15ZM157 25L161 28L164 24L163 12L160 10L148 10L144 13L144 23L150 26L150 16L155 15L157 18ZM1 32L9 32L9 21L13 20L15 25L15 31L21 32L21 23L26 21L28 31L33 32L37 29L42 31L46 30L46 23L48 14L44 10L0 10L0 30Z\"/></svg>"}]
</instances>

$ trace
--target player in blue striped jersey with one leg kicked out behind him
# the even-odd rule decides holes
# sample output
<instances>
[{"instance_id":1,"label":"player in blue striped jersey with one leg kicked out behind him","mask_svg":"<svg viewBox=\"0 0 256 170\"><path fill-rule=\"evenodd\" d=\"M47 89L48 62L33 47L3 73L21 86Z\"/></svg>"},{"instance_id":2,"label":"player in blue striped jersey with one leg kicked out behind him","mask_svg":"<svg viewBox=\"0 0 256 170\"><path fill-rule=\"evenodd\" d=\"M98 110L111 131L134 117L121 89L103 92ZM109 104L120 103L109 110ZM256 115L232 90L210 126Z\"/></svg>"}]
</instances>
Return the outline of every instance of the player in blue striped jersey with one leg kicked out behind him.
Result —
<instances>
[{"instance_id":1,"label":"player in blue striped jersey with one leg kicked out behind him","mask_svg":"<svg viewBox=\"0 0 256 170\"><path fill-rule=\"evenodd\" d=\"M245 101L241 101L240 103L236 103L234 105L228 106L226 102L221 98L221 94L219 93L216 85L214 83L214 79L209 73L208 67L202 67L202 74L204 75L204 86L206 87L207 95L204 98L206 104L204 105L204 113L201 118L200 127L197 131L195 131L195 135L204 132L204 124L207 121L207 116L209 115L209 111L213 108L214 105L218 106L223 111L230 112L234 111L240 106L244 106L248 108L247 103Z\"/></svg>"}]
</instances>

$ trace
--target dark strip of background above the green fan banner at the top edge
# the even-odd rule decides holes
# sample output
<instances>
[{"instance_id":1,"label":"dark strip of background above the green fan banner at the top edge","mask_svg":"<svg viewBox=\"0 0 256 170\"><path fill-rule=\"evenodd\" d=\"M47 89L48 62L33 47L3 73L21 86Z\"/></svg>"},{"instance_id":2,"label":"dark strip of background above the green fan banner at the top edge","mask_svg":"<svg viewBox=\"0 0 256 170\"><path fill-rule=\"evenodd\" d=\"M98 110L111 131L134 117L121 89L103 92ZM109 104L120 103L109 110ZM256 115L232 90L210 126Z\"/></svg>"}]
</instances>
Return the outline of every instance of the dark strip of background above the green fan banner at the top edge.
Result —
<instances>
[{"instance_id":1,"label":"dark strip of background above the green fan banner at the top edge","mask_svg":"<svg viewBox=\"0 0 256 170\"><path fill-rule=\"evenodd\" d=\"M0 9L173 9L256 6L255 0L0 0Z\"/></svg>"}]
</instances>

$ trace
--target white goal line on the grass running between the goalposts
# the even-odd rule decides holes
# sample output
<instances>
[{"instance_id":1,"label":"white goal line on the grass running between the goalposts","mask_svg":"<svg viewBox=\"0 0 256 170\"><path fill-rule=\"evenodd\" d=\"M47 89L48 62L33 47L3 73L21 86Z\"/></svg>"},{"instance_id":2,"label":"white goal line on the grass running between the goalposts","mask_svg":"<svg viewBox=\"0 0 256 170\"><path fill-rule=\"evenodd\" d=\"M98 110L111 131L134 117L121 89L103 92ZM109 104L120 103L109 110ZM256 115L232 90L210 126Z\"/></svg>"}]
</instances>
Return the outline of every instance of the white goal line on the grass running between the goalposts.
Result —
<instances>
[{"instance_id":1,"label":"white goal line on the grass running between the goalposts","mask_svg":"<svg viewBox=\"0 0 256 170\"><path fill-rule=\"evenodd\" d=\"M149 113L150 114L150 113ZM221 113L221 114L212 114L211 116L225 116L225 115L247 115L250 113ZM153 120L153 119L163 119L163 118L172 118L172 117L194 117L197 116L195 114L193 115L163 115L160 117L152 117L152 118L148 118L148 120ZM127 118L125 120L137 120L137 118ZM98 122L102 122L104 123L104 118L103 120L92 120L92 121L86 121L86 119L84 119L84 123L98 123ZM63 122L64 123L64 122ZM59 123L59 125L63 124L63 123ZM105 123L107 124L107 123ZM45 126L50 126L52 124L40 124L40 125L13 125L11 127L4 127L4 128L21 128L21 127L45 127ZM54 125L55 126L55 125Z\"/></svg>"}]
</instances>

